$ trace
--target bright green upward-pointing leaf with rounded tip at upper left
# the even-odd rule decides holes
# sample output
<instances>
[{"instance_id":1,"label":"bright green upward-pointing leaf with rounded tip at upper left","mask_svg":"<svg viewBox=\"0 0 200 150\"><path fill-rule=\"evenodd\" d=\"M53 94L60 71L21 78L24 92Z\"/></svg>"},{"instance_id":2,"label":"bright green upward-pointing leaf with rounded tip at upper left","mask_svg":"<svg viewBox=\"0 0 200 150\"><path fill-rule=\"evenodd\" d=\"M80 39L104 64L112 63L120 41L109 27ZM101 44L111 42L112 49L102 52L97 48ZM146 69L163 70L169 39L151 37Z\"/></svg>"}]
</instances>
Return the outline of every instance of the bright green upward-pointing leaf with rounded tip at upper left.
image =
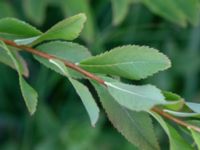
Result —
<instances>
[{"instance_id":1,"label":"bright green upward-pointing leaf with rounded tip at upper left","mask_svg":"<svg viewBox=\"0 0 200 150\"><path fill-rule=\"evenodd\" d=\"M56 39L74 40L79 36L85 21L86 16L82 13L62 20L42 34L32 44L34 45L46 40Z\"/></svg>"}]
</instances>

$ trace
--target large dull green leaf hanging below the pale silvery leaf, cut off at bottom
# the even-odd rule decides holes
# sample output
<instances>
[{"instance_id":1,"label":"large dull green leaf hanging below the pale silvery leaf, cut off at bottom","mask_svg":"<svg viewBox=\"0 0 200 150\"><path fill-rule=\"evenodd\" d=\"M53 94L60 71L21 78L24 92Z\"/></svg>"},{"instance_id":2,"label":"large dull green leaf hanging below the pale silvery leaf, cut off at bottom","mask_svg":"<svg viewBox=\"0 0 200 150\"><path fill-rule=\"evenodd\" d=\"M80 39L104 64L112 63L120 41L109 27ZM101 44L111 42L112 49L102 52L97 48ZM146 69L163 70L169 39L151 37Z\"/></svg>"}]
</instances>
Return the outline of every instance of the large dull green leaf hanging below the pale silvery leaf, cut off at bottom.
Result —
<instances>
[{"instance_id":1,"label":"large dull green leaf hanging below the pale silvery leaf, cut off at bottom","mask_svg":"<svg viewBox=\"0 0 200 150\"><path fill-rule=\"evenodd\" d=\"M145 112L130 111L118 104L106 88L92 82L114 127L139 149L158 150L151 118Z\"/></svg>"}]
</instances>

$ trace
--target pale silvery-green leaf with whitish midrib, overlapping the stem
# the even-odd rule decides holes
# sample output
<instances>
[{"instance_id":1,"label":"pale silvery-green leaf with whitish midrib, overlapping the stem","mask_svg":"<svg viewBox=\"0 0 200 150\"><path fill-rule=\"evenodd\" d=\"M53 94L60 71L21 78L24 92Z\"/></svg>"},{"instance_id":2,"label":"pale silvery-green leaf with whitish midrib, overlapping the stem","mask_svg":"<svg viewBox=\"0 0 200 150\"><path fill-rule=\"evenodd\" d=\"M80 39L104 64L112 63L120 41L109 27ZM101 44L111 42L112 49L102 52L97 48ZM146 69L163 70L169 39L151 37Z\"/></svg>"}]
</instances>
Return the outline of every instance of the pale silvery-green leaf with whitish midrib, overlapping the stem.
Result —
<instances>
[{"instance_id":1,"label":"pale silvery-green leaf with whitish midrib, overlapping the stem","mask_svg":"<svg viewBox=\"0 0 200 150\"><path fill-rule=\"evenodd\" d=\"M134 111L148 111L165 104L161 91L153 85L135 86L120 82L105 82L109 93L122 106Z\"/></svg>"}]
</instances>

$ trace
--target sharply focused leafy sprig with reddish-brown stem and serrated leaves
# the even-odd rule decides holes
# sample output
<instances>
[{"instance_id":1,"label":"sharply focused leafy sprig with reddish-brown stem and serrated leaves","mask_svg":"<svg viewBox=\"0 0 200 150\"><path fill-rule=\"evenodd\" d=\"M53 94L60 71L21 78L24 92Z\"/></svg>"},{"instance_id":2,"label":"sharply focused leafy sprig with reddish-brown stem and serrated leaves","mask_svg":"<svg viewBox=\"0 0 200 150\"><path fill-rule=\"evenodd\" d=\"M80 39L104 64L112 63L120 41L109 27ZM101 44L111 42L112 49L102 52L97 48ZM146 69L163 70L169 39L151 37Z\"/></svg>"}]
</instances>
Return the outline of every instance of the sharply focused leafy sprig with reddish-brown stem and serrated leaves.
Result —
<instances>
[{"instance_id":1,"label":"sharply focused leafy sprig with reddish-brown stem and serrated leaves","mask_svg":"<svg viewBox=\"0 0 200 150\"><path fill-rule=\"evenodd\" d=\"M92 56L86 47L71 42L79 36L85 22L86 16L77 14L42 33L15 18L0 20L0 61L17 71L30 114L37 110L38 94L26 81L30 68L21 51L30 53L71 82L93 127L98 123L100 109L80 80L91 83L113 126L139 149L160 149L152 120L166 132L170 149L200 148L200 104L186 102L179 95L154 85L121 81L145 79L168 69L171 66L168 57L154 48L137 45L123 45ZM180 132L189 138L185 139Z\"/></svg>"}]
</instances>

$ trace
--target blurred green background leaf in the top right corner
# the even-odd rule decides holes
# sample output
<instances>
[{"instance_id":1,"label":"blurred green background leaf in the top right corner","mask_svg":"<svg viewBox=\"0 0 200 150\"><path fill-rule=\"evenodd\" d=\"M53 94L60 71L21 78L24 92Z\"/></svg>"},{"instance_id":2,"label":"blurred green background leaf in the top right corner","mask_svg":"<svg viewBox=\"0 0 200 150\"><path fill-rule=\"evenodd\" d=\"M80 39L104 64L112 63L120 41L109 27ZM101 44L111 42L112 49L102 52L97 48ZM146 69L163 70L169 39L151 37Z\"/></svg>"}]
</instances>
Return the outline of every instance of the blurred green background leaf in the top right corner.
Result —
<instances>
[{"instance_id":1,"label":"blurred green background leaf in the top right corner","mask_svg":"<svg viewBox=\"0 0 200 150\"><path fill-rule=\"evenodd\" d=\"M187 21L196 25L199 22L199 1L198 0L142 0L154 13L174 22L185 26Z\"/></svg>"}]
</instances>

